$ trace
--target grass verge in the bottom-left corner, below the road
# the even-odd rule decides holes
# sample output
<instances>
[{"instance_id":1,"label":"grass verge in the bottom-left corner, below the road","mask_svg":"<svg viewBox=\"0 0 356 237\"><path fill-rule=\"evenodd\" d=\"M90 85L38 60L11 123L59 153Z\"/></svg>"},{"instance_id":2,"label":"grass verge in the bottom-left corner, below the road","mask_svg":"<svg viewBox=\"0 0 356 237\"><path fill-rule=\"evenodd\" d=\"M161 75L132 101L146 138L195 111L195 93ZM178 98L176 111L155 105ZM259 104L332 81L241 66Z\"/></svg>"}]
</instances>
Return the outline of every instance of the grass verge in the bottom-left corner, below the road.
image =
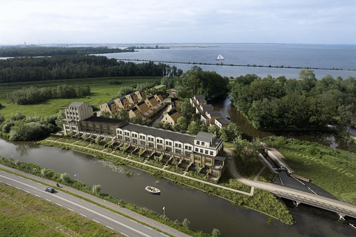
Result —
<instances>
[{"instance_id":1,"label":"grass verge in the bottom-left corner, below the road","mask_svg":"<svg viewBox=\"0 0 356 237\"><path fill-rule=\"evenodd\" d=\"M0 183L0 237L10 236L123 237L75 212Z\"/></svg>"}]
</instances>

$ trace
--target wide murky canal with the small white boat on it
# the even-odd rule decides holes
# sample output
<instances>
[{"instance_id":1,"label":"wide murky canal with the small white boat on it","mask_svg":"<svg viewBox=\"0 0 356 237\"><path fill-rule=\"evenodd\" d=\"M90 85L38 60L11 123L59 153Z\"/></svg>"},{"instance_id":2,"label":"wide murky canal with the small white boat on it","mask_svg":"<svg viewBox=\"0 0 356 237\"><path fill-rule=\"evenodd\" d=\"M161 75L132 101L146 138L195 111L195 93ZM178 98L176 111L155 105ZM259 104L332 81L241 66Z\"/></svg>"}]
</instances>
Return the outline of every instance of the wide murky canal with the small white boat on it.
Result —
<instances>
[{"instance_id":1,"label":"wide murky canal with the small white boat on it","mask_svg":"<svg viewBox=\"0 0 356 237\"><path fill-rule=\"evenodd\" d=\"M169 218L179 221L188 218L192 228L208 233L217 228L222 237L351 237L356 233L340 221L316 217L298 209L291 209L297 221L291 227L275 220L267 224L267 216L231 205L220 197L183 189L143 171L135 171L135 175L115 172L110 166L103 165L101 160L91 156L40 146L33 142L0 139L0 156L32 162L59 173L67 172L72 179L78 178L89 186L100 184L104 193L158 213L162 213L165 206ZM145 192L144 187L147 185L159 188L161 195Z\"/></svg>"}]
</instances>

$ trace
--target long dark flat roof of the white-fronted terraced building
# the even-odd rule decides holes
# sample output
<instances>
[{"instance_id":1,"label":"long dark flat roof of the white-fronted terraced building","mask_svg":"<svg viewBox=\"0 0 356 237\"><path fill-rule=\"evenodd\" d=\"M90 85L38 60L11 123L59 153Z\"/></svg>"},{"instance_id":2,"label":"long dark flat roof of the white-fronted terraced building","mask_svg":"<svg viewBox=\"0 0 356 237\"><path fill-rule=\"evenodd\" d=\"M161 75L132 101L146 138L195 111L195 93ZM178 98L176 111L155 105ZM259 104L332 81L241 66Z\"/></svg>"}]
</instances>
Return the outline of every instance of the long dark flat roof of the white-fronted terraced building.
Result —
<instances>
[{"instance_id":1,"label":"long dark flat roof of the white-fronted terraced building","mask_svg":"<svg viewBox=\"0 0 356 237\"><path fill-rule=\"evenodd\" d=\"M182 143L189 143L191 145L194 145L195 136L192 136L192 135L189 135L186 133L173 132L173 131L169 131L169 130L163 130L161 128L148 127L148 126L144 126L144 125L134 124L131 122L120 126L120 128L123 130L144 133L146 135L152 135L154 137L162 137L163 139L171 139L173 141L179 141Z\"/></svg>"}]
</instances>

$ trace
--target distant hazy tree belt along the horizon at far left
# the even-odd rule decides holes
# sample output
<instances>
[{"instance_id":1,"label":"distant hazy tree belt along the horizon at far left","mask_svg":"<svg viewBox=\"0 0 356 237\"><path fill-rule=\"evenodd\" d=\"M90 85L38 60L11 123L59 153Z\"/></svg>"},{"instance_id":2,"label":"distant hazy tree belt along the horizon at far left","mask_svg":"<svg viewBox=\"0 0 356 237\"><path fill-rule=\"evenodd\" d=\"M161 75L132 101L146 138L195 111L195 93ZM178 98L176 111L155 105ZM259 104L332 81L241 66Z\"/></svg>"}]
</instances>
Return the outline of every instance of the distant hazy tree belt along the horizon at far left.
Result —
<instances>
[{"instance_id":1,"label":"distant hazy tree belt along the horizon at far left","mask_svg":"<svg viewBox=\"0 0 356 237\"><path fill-rule=\"evenodd\" d=\"M8 46L0 47L0 57L39 57L54 55L134 52L133 48L108 47L58 47L58 46Z\"/></svg>"}]
</instances>

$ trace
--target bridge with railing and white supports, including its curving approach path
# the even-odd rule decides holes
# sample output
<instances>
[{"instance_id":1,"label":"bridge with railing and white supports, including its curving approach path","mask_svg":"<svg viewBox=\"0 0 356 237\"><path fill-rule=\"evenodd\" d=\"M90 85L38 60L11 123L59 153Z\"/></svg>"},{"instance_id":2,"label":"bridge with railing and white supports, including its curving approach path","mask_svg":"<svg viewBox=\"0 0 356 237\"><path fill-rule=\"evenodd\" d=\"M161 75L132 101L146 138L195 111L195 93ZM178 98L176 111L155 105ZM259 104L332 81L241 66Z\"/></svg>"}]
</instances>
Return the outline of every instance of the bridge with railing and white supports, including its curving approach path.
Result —
<instances>
[{"instance_id":1,"label":"bridge with railing and white supports, including its curving approach path","mask_svg":"<svg viewBox=\"0 0 356 237\"><path fill-rule=\"evenodd\" d=\"M246 179L245 177L241 176L241 174L238 172L235 159L232 158L233 153L231 149L224 148L224 151L229 155L229 158L227 159L228 172L237 181L254 188L267 190L272 194L274 194L275 196L293 200L296 202L296 205L298 205L299 203L305 203L325 210L336 212L339 214L340 219L343 219L345 216L356 218L355 205L342 202L339 200L335 200L329 197L318 196L297 189L292 189L276 184Z\"/></svg>"}]
</instances>

